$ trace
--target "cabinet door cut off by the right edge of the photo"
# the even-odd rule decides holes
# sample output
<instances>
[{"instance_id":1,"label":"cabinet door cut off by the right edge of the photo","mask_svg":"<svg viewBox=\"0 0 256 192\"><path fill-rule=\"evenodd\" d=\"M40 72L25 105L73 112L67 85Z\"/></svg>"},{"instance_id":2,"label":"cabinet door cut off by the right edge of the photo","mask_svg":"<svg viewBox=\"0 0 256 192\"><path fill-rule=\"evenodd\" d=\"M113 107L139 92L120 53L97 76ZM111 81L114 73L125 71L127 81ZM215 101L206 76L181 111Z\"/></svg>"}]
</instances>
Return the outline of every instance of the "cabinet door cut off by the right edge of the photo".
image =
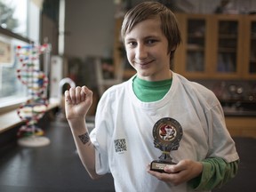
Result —
<instances>
[{"instance_id":1,"label":"cabinet door cut off by the right edge of the photo","mask_svg":"<svg viewBox=\"0 0 256 192\"><path fill-rule=\"evenodd\" d=\"M244 17L244 77L256 78L256 16Z\"/></svg>"}]
</instances>

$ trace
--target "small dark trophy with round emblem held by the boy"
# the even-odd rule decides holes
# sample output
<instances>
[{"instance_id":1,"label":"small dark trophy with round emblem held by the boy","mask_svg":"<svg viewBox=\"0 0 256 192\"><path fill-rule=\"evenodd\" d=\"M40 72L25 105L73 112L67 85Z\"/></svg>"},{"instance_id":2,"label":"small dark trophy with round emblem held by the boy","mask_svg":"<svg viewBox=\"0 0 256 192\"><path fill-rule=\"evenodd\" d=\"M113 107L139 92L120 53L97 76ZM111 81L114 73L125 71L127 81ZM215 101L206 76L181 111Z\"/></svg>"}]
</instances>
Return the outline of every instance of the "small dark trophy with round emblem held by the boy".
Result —
<instances>
[{"instance_id":1,"label":"small dark trophy with round emblem held by the boy","mask_svg":"<svg viewBox=\"0 0 256 192\"><path fill-rule=\"evenodd\" d=\"M153 127L153 137L155 148L162 151L162 155L158 160L154 160L150 164L150 170L155 172L164 172L164 167L172 162L170 152L180 147L182 138L182 127L178 121L170 117L164 117L156 122Z\"/></svg>"}]
</instances>

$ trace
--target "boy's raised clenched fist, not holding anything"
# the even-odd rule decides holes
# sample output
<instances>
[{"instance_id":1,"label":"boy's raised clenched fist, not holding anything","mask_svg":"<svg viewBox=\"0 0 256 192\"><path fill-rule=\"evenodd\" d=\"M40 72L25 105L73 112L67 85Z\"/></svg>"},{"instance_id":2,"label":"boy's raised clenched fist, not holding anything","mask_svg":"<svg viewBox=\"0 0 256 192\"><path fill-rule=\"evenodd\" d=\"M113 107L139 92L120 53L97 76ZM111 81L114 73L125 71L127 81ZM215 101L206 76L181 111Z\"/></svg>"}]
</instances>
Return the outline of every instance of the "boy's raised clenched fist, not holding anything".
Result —
<instances>
[{"instance_id":1,"label":"boy's raised clenched fist, not holding anything","mask_svg":"<svg viewBox=\"0 0 256 192\"><path fill-rule=\"evenodd\" d=\"M72 87L65 92L65 112L68 120L85 118L92 105L92 91L86 86Z\"/></svg>"}]
</instances>

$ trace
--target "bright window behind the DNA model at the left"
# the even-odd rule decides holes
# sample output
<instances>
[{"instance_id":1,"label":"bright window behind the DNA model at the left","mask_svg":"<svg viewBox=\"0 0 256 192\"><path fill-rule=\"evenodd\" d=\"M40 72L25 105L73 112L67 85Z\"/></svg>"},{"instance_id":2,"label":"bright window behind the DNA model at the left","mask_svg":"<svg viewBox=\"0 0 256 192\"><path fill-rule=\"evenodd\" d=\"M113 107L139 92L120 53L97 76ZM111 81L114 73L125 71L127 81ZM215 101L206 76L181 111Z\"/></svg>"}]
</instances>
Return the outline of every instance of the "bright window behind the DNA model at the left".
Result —
<instances>
[{"instance_id":1,"label":"bright window behind the DNA model at the left","mask_svg":"<svg viewBox=\"0 0 256 192\"><path fill-rule=\"evenodd\" d=\"M15 48L30 41L39 43L38 2L41 1L0 0L0 113L27 100L27 88L17 78L20 63Z\"/></svg>"}]
</instances>

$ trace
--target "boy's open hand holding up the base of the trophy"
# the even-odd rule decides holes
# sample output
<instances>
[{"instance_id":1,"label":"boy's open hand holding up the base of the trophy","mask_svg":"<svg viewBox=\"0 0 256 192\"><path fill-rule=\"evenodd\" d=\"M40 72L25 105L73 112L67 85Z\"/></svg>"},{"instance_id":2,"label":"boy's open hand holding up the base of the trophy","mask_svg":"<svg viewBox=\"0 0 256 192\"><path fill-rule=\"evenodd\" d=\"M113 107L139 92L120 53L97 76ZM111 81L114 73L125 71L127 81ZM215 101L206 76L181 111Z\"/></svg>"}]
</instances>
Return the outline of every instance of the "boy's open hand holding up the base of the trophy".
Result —
<instances>
[{"instance_id":1,"label":"boy's open hand holding up the base of the trophy","mask_svg":"<svg viewBox=\"0 0 256 192\"><path fill-rule=\"evenodd\" d=\"M148 169L148 173L158 180L171 182L174 186L191 180L203 172L203 164L192 160L182 160L179 164L170 164L164 167L163 172L154 172Z\"/></svg>"}]
</instances>

